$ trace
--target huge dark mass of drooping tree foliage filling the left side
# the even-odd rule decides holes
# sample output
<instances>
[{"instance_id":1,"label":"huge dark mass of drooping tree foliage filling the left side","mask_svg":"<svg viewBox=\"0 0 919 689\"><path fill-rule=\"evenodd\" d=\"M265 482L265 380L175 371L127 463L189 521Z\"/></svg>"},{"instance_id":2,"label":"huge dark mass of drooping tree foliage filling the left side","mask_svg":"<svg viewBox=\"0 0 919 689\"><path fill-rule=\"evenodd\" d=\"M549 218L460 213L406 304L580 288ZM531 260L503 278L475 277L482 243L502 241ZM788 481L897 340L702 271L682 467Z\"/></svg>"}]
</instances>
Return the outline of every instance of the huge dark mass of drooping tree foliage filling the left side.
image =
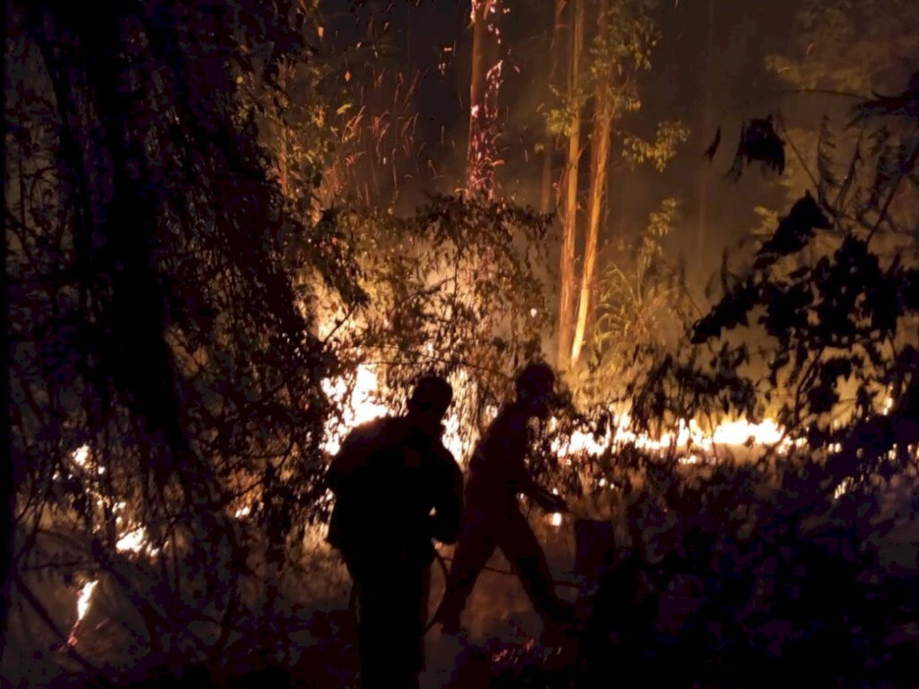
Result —
<instances>
[{"instance_id":1,"label":"huge dark mass of drooping tree foliage filling the left side","mask_svg":"<svg viewBox=\"0 0 919 689\"><path fill-rule=\"evenodd\" d=\"M271 84L278 60L303 50L307 10L11 9L17 566L61 539L74 564L53 575L68 589L116 583L157 647L209 606L232 618L250 529L277 565L324 491L321 381L335 362L295 277L309 268L356 300L341 278L355 266L281 195L238 90ZM231 519L243 499L252 525ZM116 543L140 525L146 549L125 555ZM139 557L166 543L169 558ZM139 578L157 581L150 598Z\"/></svg>"}]
</instances>

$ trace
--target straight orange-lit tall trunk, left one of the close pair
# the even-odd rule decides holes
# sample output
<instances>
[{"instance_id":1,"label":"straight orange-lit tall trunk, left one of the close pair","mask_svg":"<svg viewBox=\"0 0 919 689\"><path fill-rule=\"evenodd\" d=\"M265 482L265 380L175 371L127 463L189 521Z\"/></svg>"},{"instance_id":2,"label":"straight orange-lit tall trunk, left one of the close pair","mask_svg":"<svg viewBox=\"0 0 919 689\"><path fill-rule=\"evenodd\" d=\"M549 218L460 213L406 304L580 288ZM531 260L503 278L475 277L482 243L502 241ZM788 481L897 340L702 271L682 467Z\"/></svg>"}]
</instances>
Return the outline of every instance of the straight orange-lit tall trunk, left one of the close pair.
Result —
<instances>
[{"instance_id":1,"label":"straight orange-lit tall trunk, left one of the close pair","mask_svg":"<svg viewBox=\"0 0 919 689\"><path fill-rule=\"evenodd\" d=\"M573 0L573 20L570 34L571 54L568 67L568 104L571 127L568 134L568 154L565 160L565 196L562 215L562 280L559 304L558 366L567 368L571 362L574 325L574 252L577 243L577 181L581 158L581 108L578 85L581 79L581 52L584 48L584 0Z\"/></svg>"}]
</instances>

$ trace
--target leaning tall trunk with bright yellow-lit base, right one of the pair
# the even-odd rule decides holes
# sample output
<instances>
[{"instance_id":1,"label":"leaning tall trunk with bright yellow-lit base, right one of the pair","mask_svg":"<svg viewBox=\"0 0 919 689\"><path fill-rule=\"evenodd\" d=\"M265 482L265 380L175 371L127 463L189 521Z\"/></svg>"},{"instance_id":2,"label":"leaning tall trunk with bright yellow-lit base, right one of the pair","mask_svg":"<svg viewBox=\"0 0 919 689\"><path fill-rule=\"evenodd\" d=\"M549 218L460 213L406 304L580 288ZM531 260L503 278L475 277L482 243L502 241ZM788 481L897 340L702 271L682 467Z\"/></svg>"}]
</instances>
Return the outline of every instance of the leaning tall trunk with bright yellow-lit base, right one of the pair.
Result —
<instances>
[{"instance_id":1,"label":"leaning tall trunk with bright yellow-lit base, right one of the pair","mask_svg":"<svg viewBox=\"0 0 919 689\"><path fill-rule=\"evenodd\" d=\"M597 21L599 31L607 28L606 3L600 3ZM594 126L590 141L590 186L587 197L587 232L584 238L584 268L581 271L581 290L578 298L577 321L574 325L571 363L575 366L584 348L584 337L592 312L591 295L596 279L596 252L600 235L600 215L607 188L607 163L612 130L613 112L610 104L611 68L606 76L596 80L594 91Z\"/></svg>"}]
</instances>

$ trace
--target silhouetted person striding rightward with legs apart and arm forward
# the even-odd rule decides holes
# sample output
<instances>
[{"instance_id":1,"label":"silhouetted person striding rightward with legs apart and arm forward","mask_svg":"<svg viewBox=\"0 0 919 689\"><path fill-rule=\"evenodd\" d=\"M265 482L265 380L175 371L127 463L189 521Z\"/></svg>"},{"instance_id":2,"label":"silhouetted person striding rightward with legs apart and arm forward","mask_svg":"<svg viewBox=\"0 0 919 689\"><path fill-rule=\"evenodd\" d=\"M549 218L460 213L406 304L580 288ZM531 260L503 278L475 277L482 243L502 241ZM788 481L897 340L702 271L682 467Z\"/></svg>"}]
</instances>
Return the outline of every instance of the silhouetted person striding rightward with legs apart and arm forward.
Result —
<instances>
[{"instance_id":1,"label":"silhouetted person striding rightward with legs apart and arm forward","mask_svg":"<svg viewBox=\"0 0 919 689\"><path fill-rule=\"evenodd\" d=\"M436 616L446 632L459 629L466 601L495 548L511 563L550 634L572 620L571 607L556 595L545 554L517 502L522 493L547 512L567 509L559 496L533 480L525 462L531 443L529 421L548 417L554 382L547 365L525 367L516 378L516 400L498 412L471 458L466 521Z\"/></svg>"}]
</instances>

